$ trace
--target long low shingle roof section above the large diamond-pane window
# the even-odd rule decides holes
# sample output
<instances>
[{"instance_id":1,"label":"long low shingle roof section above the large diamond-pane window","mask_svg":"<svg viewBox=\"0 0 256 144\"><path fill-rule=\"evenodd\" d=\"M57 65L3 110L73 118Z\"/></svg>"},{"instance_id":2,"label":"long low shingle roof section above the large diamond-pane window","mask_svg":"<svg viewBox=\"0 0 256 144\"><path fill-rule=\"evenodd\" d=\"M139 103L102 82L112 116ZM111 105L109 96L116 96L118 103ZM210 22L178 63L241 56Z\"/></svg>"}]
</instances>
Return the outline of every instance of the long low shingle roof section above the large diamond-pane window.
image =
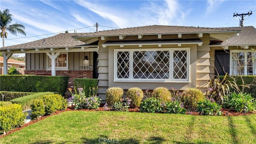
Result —
<instances>
[{"instance_id":1,"label":"long low shingle roof section above the large diamond-pane window","mask_svg":"<svg viewBox=\"0 0 256 144\"><path fill-rule=\"evenodd\" d=\"M236 31L234 28L204 28L188 26L140 26L133 28L122 28L116 30L104 30L99 32L82 33L81 36L116 36L116 35L138 35L138 34L180 34L180 33L207 33L207 32L229 32ZM75 36L74 36L75 37Z\"/></svg>"}]
</instances>

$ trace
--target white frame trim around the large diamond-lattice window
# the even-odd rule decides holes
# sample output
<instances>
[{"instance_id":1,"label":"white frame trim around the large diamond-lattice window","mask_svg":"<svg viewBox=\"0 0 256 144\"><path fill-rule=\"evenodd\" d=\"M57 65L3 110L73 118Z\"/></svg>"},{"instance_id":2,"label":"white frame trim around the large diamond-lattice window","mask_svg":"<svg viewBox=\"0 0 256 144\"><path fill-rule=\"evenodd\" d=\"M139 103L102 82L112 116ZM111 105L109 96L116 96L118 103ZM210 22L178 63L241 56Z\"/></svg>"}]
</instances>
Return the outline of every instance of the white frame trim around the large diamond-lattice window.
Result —
<instances>
[{"instance_id":1,"label":"white frame trim around the large diamond-lattice window","mask_svg":"<svg viewBox=\"0 0 256 144\"><path fill-rule=\"evenodd\" d=\"M187 51L187 78L173 78L173 52L175 50ZM169 78L168 79L137 79L133 78L133 52L134 51L169 51ZM117 78L117 52L129 52L129 78ZM190 82L190 48L140 48L140 49L114 49L114 82Z\"/></svg>"}]
</instances>

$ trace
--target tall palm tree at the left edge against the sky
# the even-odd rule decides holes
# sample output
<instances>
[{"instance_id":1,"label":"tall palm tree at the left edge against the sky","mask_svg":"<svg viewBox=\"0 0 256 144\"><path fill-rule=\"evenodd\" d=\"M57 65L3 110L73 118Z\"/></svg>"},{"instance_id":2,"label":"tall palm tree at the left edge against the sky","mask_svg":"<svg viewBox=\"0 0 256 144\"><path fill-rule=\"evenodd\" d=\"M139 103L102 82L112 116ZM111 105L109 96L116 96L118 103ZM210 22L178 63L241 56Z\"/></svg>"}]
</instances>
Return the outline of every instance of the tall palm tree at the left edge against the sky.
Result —
<instances>
[{"instance_id":1,"label":"tall palm tree at the left edge against the sky","mask_svg":"<svg viewBox=\"0 0 256 144\"><path fill-rule=\"evenodd\" d=\"M18 22L11 24L12 22L12 14L9 13L8 9L5 9L4 11L0 10L0 28L1 28L1 38L3 38L3 47L4 47L4 38L7 38L7 32L10 32L11 34L17 36L17 32L19 34L23 34L26 36L26 33L24 32L25 26L22 24L19 24Z\"/></svg>"}]
</instances>

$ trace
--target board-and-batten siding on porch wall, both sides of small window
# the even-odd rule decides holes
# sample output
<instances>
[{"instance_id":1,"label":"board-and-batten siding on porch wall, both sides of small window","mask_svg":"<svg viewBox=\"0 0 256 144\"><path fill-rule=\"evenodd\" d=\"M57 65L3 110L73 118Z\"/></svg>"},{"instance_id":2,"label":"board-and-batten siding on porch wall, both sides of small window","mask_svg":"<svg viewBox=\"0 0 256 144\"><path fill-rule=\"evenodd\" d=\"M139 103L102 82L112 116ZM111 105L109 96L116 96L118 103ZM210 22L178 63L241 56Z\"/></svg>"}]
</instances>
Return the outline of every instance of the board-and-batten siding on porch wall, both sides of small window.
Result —
<instances>
[{"instance_id":1,"label":"board-and-batten siding on porch wall, both sides of small window","mask_svg":"<svg viewBox=\"0 0 256 144\"><path fill-rule=\"evenodd\" d=\"M84 56L88 56L87 61ZM47 70L47 59L46 53L26 54L26 70ZM68 70L84 70L81 66L85 65L89 68L86 70L93 70L93 52L68 52Z\"/></svg>"}]
</instances>

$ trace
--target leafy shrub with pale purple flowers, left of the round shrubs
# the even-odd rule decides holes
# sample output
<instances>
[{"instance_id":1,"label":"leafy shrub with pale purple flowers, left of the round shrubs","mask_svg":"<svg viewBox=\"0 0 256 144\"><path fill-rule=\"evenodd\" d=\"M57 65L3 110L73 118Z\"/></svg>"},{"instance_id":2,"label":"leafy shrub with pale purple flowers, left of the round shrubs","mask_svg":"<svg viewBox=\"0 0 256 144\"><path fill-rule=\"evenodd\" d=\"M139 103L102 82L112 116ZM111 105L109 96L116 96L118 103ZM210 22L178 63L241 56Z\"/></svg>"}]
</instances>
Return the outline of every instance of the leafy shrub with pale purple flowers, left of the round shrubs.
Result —
<instances>
[{"instance_id":1,"label":"leafy shrub with pale purple flowers, left of the round shrubs","mask_svg":"<svg viewBox=\"0 0 256 144\"><path fill-rule=\"evenodd\" d=\"M72 89L69 89L72 93ZM89 88L89 95L86 95L83 88L78 88L78 92L75 88L75 94L69 98L68 102L75 104L74 109L97 109L100 106L101 99L97 96L98 87Z\"/></svg>"}]
</instances>

